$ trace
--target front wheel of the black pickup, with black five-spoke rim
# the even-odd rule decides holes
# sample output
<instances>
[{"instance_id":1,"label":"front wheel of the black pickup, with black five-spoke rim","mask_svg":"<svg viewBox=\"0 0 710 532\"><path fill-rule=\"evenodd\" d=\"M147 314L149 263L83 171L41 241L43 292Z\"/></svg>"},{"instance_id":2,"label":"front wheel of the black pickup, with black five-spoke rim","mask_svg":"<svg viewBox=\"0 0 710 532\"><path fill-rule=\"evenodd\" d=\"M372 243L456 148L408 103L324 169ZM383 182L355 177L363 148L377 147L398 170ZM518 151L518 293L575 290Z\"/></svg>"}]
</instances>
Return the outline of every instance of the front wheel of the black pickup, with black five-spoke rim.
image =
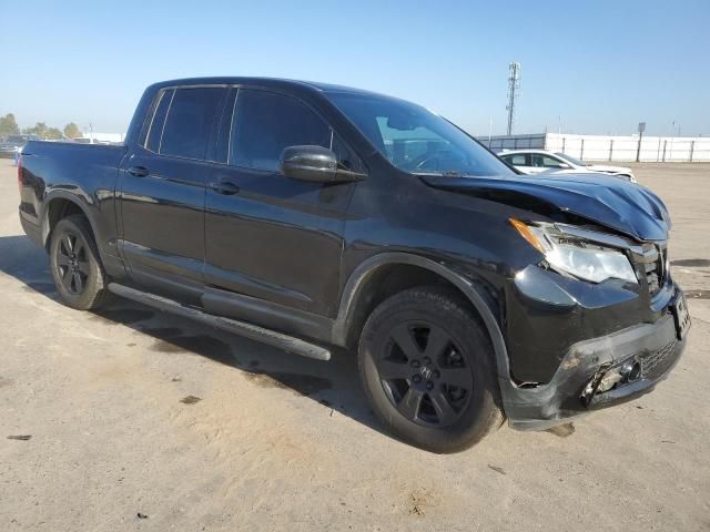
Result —
<instances>
[{"instance_id":1,"label":"front wheel of the black pickup, with black five-spoke rim","mask_svg":"<svg viewBox=\"0 0 710 532\"><path fill-rule=\"evenodd\" d=\"M504 420L493 347L455 290L418 287L382 303L359 341L365 393L399 439L449 453Z\"/></svg>"}]
</instances>

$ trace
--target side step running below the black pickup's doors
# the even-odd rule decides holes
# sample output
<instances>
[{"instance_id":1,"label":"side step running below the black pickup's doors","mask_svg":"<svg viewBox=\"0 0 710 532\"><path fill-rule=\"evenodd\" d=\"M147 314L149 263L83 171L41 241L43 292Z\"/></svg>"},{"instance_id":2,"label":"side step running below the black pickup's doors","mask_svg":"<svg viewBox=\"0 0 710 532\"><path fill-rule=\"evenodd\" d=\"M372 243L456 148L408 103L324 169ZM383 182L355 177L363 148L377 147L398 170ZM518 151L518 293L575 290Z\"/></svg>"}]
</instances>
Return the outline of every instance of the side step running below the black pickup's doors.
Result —
<instances>
[{"instance_id":1,"label":"side step running below the black pickup's doors","mask_svg":"<svg viewBox=\"0 0 710 532\"><path fill-rule=\"evenodd\" d=\"M301 355L302 357L315 358L316 360L331 359L331 351L328 349L284 335L283 332L264 329L263 327L247 324L245 321L237 321L236 319L214 316L197 308L189 307L172 299L168 299L166 297L155 296L146 291L129 288L128 286L119 285L118 283L109 283L109 290L116 296L125 297L126 299L132 299L166 313L194 319L195 321L200 321L229 332L234 332L252 340L280 347L285 351Z\"/></svg>"}]
</instances>

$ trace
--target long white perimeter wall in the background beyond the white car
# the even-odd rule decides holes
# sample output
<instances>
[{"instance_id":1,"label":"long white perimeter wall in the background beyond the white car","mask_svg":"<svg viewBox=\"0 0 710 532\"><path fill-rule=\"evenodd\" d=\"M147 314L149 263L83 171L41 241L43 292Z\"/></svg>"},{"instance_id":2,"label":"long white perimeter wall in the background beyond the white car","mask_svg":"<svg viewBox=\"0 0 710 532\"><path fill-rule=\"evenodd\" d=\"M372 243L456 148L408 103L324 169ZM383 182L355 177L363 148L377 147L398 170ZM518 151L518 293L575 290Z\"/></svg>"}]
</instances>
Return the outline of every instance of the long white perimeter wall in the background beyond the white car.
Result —
<instances>
[{"instance_id":1,"label":"long white perimeter wall in the background beyond the white car","mask_svg":"<svg viewBox=\"0 0 710 532\"><path fill-rule=\"evenodd\" d=\"M488 146L488 137L478 140ZM494 152L503 150L538 149L562 152L584 161L629 162L701 162L710 161L710 137L704 136L639 136L572 135L537 133L529 135L496 135L490 137Z\"/></svg>"}]
</instances>

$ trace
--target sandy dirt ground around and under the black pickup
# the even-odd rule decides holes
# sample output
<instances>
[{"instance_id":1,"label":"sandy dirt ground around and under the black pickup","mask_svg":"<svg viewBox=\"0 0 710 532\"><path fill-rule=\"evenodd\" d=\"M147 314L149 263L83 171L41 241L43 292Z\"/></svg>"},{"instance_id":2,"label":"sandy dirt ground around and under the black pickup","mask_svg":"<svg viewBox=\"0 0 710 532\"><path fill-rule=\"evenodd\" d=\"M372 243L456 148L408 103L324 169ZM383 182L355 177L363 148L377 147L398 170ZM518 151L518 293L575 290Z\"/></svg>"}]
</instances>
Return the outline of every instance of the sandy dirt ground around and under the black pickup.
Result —
<instances>
[{"instance_id":1,"label":"sandy dirt ground around and under the black pickup","mask_svg":"<svg viewBox=\"0 0 710 532\"><path fill-rule=\"evenodd\" d=\"M0 530L710 530L710 165L635 168L668 202L690 296L674 372L561 429L435 456L382 432L346 354L60 305L0 161Z\"/></svg>"}]
</instances>

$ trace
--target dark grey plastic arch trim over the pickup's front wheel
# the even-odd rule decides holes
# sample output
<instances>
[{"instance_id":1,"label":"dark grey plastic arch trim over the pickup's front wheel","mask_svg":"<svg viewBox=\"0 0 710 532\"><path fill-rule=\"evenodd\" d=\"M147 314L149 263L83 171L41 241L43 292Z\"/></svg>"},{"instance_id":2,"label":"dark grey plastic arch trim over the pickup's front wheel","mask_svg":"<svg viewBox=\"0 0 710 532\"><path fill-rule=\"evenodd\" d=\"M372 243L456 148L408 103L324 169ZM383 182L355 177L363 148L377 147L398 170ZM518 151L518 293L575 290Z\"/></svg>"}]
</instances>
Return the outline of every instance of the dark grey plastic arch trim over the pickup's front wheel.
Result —
<instances>
[{"instance_id":1,"label":"dark grey plastic arch trim over the pickup's front wheel","mask_svg":"<svg viewBox=\"0 0 710 532\"><path fill-rule=\"evenodd\" d=\"M345 285L345 289L343 290L343 295L341 296L338 314L335 318L335 323L333 324L333 342L339 346L344 346L346 344L347 331L353 325L353 320L355 318L355 304L363 295L363 289L367 279L378 268L393 264L406 264L428 269L440 275L456 286L471 303L471 305L474 305L486 326L486 330L490 337L494 352L496 355L499 379L509 380L510 366L508 364L508 351L503 338L503 332L500 331L498 321L491 313L490 307L476 289L476 283L455 273L445 265L420 255L413 255L408 253L381 253L369 257L357 266L357 268L355 268L351 274L347 284Z\"/></svg>"}]
</instances>

